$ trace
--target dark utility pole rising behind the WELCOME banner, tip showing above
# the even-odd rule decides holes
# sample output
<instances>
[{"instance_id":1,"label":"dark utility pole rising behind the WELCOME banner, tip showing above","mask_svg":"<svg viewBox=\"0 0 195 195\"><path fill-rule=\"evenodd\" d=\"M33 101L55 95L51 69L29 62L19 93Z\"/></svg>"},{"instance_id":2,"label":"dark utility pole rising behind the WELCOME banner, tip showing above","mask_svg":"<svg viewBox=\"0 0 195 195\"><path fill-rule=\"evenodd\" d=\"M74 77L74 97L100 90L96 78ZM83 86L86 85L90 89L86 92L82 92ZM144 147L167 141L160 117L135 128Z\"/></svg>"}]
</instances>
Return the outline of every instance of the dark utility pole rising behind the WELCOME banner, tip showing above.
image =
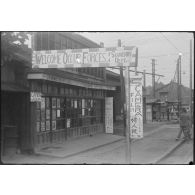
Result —
<instances>
[{"instance_id":1,"label":"dark utility pole rising behind the WELCOME banner, tip showing above","mask_svg":"<svg viewBox=\"0 0 195 195\"><path fill-rule=\"evenodd\" d=\"M121 47L121 40L118 39L118 47ZM125 114L125 83L123 77L123 67L120 67L120 83L121 83L121 111L122 111L122 119L124 124L123 135L126 135L126 114Z\"/></svg>"}]
</instances>

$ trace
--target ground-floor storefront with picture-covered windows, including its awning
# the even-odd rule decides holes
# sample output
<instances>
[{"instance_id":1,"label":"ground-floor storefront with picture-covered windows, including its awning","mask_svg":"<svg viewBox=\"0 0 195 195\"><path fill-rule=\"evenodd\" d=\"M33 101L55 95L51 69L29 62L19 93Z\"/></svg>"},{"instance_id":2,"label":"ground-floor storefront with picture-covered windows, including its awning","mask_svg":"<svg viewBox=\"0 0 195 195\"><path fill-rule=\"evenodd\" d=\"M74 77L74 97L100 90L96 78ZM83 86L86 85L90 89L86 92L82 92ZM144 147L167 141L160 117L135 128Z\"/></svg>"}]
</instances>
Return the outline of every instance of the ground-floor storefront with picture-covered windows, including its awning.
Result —
<instances>
[{"instance_id":1,"label":"ground-floor storefront with picture-covered windows, including its awning","mask_svg":"<svg viewBox=\"0 0 195 195\"><path fill-rule=\"evenodd\" d=\"M31 102L35 149L105 131L106 91L115 87L71 80L65 73L32 72L28 79L31 92L41 93L41 101Z\"/></svg>"}]
</instances>

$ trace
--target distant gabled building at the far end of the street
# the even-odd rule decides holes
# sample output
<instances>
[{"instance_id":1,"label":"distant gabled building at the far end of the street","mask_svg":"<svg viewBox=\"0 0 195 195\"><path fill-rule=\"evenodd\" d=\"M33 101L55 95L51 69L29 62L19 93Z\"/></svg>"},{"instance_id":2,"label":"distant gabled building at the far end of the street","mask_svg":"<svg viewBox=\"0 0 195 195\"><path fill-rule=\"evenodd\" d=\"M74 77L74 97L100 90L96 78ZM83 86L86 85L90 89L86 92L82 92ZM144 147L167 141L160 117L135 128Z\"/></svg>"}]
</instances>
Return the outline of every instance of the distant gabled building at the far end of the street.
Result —
<instances>
[{"instance_id":1,"label":"distant gabled building at the far end of the street","mask_svg":"<svg viewBox=\"0 0 195 195\"><path fill-rule=\"evenodd\" d=\"M171 81L167 85L156 89L155 99L147 96L147 118L149 121L171 120L178 118L177 83ZM190 109L190 89L181 86L181 106ZM150 110L150 111L149 111Z\"/></svg>"}]
</instances>

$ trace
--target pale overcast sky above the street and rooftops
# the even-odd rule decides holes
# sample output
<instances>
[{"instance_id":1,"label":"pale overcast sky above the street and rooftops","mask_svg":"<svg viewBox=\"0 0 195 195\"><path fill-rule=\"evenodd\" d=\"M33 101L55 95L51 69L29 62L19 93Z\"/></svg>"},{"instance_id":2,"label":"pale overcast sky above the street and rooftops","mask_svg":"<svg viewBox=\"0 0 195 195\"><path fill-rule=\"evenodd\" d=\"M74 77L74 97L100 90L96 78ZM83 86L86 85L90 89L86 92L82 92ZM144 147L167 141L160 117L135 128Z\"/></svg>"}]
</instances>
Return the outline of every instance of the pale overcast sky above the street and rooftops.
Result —
<instances>
[{"instance_id":1,"label":"pale overcast sky above the street and rooftops","mask_svg":"<svg viewBox=\"0 0 195 195\"><path fill-rule=\"evenodd\" d=\"M137 46L139 49L138 70L152 72L151 59L156 59L156 73L162 74L159 82L169 83L174 77L176 60L182 53L182 84L189 87L190 39L192 33L184 32L83 32L88 39L104 43L104 47L117 46L121 39L122 46ZM194 48L194 46L193 46ZM194 53L194 52L193 52ZM193 56L194 67L194 56ZM194 70L194 69L193 69ZM192 73L194 81L194 71ZM158 80L158 77L156 77ZM151 85L151 76L146 77L146 85ZM194 83L194 82L193 82ZM194 86L194 85L193 85Z\"/></svg>"}]
</instances>

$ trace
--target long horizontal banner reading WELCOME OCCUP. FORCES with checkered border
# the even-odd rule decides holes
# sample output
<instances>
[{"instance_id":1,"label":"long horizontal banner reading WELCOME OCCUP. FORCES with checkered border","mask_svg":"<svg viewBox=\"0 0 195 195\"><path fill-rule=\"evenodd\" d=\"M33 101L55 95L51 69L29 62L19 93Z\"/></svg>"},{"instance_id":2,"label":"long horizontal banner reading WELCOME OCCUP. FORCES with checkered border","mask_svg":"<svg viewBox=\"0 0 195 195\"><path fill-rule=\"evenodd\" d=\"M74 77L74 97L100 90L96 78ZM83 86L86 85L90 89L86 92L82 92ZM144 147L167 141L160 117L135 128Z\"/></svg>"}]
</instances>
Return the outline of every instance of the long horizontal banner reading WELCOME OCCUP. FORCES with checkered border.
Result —
<instances>
[{"instance_id":1,"label":"long horizontal banner reading WELCOME OCCUP. FORCES with checkered border","mask_svg":"<svg viewBox=\"0 0 195 195\"><path fill-rule=\"evenodd\" d=\"M136 66L136 47L33 51L32 68Z\"/></svg>"}]
</instances>

